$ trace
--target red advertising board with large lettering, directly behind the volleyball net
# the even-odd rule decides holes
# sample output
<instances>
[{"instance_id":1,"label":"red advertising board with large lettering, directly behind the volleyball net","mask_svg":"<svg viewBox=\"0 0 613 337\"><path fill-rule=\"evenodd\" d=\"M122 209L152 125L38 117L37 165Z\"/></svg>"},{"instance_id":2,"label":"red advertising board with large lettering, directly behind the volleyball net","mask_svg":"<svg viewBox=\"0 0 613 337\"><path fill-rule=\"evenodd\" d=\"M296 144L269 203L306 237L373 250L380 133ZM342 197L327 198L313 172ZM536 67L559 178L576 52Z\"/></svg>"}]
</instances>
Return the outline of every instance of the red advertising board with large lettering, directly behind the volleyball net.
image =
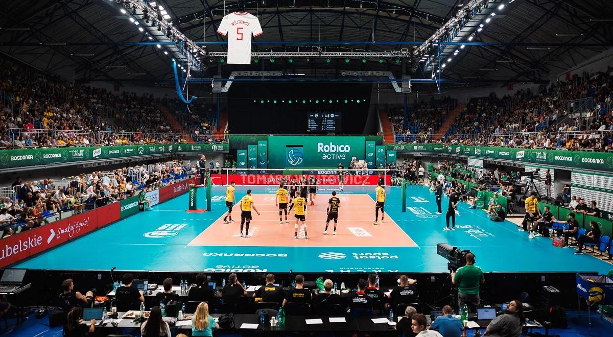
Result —
<instances>
[{"instance_id":1,"label":"red advertising board with large lettering, directly behind the volleyball net","mask_svg":"<svg viewBox=\"0 0 613 337\"><path fill-rule=\"evenodd\" d=\"M295 175L291 175L294 177ZM338 185L338 175L314 175L320 186ZM235 181L239 185L273 185L281 183L283 175L221 175L213 176L214 184L229 184ZM297 178L299 176L296 176ZM385 176L385 184L389 186L391 177ZM379 181L378 175L345 175L345 186L376 186Z\"/></svg>"}]
</instances>

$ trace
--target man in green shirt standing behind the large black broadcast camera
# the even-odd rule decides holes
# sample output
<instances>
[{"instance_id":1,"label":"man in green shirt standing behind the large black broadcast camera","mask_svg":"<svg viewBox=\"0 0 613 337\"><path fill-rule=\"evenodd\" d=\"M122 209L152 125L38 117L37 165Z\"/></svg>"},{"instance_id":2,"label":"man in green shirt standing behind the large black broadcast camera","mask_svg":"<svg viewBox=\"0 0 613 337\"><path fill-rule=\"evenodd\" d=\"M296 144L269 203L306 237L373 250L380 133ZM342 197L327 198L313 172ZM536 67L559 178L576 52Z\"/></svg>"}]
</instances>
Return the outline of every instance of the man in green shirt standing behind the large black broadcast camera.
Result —
<instances>
[{"instance_id":1,"label":"man in green shirt standing behind the large black broadcast camera","mask_svg":"<svg viewBox=\"0 0 613 337\"><path fill-rule=\"evenodd\" d=\"M481 268L474 265L474 254L466 254L466 265L451 271L451 282L458 287L459 308L468 306L469 312L476 312L479 305L479 286L485 278Z\"/></svg>"}]
</instances>

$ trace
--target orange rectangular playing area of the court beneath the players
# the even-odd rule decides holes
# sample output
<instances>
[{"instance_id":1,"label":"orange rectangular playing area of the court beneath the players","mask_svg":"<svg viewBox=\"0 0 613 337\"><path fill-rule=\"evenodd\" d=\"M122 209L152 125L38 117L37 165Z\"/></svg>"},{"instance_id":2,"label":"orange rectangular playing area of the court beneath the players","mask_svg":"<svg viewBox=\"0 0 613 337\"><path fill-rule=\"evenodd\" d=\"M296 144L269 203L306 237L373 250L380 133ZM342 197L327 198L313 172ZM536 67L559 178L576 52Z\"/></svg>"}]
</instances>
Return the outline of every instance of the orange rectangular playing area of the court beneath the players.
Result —
<instances>
[{"instance_id":1,"label":"orange rectangular playing area of the court beneath the players","mask_svg":"<svg viewBox=\"0 0 613 337\"><path fill-rule=\"evenodd\" d=\"M337 235L332 235L333 221L328 233L326 208L332 195L317 195L314 206L307 206L306 224L308 240L304 232L294 239L294 210L287 215L288 223L279 224L279 210L275 206L275 194L252 194L257 210L251 210L253 220L249 225L250 237L240 237L240 205L234 205L234 222L224 224L223 216L217 219L200 235L192 240L192 246L335 246L335 247L416 247L417 244L402 230L394 219L387 216L384 223L373 225L375 201L367 194L343 194L338 212ZM289 206L288 206L289 207ZM381 215L379 214L379 217ZM243 230L243 233L245 231Z\"/></svg>"}]
</instances>

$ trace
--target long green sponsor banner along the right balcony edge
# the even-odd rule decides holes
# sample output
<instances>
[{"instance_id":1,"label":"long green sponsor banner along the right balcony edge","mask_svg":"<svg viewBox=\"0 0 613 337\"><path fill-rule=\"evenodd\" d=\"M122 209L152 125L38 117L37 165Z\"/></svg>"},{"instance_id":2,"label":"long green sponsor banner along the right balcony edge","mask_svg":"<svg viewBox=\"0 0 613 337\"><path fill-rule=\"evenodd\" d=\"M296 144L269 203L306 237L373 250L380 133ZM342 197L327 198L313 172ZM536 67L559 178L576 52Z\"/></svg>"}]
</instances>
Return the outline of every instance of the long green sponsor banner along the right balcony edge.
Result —
<instances>
[{"instance_id":1,"label":"long green sponsor banner along the right balcony edge","mask_svg":"<svg viewBox=\"0 0 613 337\"><path fill-rule=\"evenodd\" d=\"M504 161L613 172L613 153L606 152L533 150L440 144L394 144L387 145L387 150L395 150L399 153L460 154L482 159L500 159Z\"/></svg>"}]
</instances>

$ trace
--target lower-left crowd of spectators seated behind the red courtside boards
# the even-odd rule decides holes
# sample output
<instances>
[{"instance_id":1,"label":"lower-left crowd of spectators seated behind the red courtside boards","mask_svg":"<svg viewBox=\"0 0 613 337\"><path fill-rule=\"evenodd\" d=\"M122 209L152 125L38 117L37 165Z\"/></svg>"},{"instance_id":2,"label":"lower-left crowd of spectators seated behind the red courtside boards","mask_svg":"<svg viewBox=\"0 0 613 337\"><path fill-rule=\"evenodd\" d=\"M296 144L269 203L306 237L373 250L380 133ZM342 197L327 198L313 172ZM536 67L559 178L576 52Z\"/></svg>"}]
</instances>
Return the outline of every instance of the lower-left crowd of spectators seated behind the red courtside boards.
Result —
<instances>
[{"instance_id":1,"label":"lower-left crowd of spectators seated behind the red courtside boards","mask_svg":"<svg viewBox=\"0 0 613 337\"><path fill-rule=\"evenodd\" d=\"M171 164L172 163L172 164ZM120 202L137 191L150 191L166 181L192 173L191 165L178 160L153 165L117 168L110 172L81 173L56 184L51 178L12 184L17 198L0 200L2 237L47 224L58 213L82 213L86 209Z\"/></svg>"}]
</instances>

